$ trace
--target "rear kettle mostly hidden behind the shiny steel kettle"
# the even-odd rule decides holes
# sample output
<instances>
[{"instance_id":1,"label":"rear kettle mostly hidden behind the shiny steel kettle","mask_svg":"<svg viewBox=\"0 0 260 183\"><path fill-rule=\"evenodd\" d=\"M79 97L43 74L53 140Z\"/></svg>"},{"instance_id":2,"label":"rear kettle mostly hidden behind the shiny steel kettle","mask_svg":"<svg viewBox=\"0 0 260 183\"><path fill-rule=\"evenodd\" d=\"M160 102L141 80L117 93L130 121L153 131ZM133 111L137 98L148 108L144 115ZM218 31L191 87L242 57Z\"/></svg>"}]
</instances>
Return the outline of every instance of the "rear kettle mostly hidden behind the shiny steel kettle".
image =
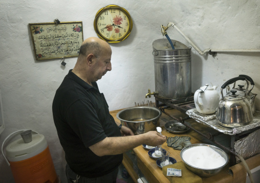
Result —
<instances>
[{"instance_id":1,"label":"rear kettle mostly hidden behind the shiny steel kettle","mask_svg":"<svg viewBox=\"0 0 260 183\"><path fill-rule=\"evenodd\" d=\"M253 87L254 87L254 81L248 75L240 74L239 76L246 77L246 82L247 82L246 89L244 88L244 85L237 85L238 87L235 88L235 82L234 82L234 85L233 85L232 89L237 91L236 94L239 94L241 96L245 96L249 100L249 102L251 103L252 114L254 115L254 113L255 113L255 103L254 103L254 100L255 100L255 97L257 95L255 93L252 93L252 90L253 90ZM251 89L249 91L248 91L248 87L249 87L248 81L251 84ZM230 94L230 90L227 90L227 94L226 95L229 95L229 94Z\"/></svg>"}]
</instances>

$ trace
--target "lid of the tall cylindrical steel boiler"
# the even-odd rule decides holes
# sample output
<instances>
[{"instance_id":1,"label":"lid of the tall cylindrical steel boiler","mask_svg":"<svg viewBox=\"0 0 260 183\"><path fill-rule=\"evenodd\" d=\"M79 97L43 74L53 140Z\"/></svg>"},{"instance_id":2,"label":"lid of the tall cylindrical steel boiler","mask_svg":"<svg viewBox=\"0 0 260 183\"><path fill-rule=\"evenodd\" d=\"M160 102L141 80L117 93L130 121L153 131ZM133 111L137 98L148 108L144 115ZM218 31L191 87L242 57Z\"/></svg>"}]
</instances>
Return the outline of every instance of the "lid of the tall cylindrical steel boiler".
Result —
<instances>
[{"instance_id":1,"label":"lid of the tall cylindrical steel boiler","mask_svg":"<svg viewBox=\"0 0 260 183\"><path fill-rule=\"evenodd\" d=\"M174 44L175 49L187 49L188 47L176 40L171 39L172 44ZM168 39L157 39L153 42L153 49L154 50L170 50L171 45Z\"/></svg>"}]
</instances>

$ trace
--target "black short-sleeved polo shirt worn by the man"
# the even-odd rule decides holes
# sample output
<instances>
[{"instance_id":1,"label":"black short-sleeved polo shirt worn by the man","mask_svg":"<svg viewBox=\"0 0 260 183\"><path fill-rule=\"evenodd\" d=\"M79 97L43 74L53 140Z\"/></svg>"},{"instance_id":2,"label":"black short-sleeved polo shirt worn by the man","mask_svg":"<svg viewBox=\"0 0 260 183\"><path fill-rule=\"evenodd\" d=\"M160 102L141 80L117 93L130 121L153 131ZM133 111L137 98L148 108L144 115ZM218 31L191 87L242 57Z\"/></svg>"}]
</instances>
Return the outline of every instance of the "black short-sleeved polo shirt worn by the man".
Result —
<instances>
[{"instance_id":1,"label":"black short-sleeved polo shirt worn by the man","mask_svg":"<svg viewBox=\"0 0 260 183\"><path fill-rule=\"evenodd\" d=\"M52 111L61 146L70 168L85 177L112 172L123 154L97 156L89 146L106 137L121 136L97 83L93 87L69 71L54 96Z\"/></svg>"}]
</instances>

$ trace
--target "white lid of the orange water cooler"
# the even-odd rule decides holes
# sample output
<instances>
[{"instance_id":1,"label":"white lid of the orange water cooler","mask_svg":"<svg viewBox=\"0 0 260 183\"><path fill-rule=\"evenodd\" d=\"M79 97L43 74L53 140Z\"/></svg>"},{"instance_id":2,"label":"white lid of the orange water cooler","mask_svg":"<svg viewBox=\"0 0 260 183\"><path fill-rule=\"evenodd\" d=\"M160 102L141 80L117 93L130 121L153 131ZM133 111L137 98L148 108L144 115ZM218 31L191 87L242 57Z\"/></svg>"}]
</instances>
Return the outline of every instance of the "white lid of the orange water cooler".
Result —
<instances>
[{"instance_id":1,"label":"white lid of the orange water cooler","mask_svg":"<svg viewBox=\"0 0 260 183\"><path fill-rule=\"evenodd\" d=\"M6 147L6 157L8 161L17 162L32 158L48 147L44 135L33 134L32 141L25 143L23 139L17 139Z\"/></svg>"}]
</instances>

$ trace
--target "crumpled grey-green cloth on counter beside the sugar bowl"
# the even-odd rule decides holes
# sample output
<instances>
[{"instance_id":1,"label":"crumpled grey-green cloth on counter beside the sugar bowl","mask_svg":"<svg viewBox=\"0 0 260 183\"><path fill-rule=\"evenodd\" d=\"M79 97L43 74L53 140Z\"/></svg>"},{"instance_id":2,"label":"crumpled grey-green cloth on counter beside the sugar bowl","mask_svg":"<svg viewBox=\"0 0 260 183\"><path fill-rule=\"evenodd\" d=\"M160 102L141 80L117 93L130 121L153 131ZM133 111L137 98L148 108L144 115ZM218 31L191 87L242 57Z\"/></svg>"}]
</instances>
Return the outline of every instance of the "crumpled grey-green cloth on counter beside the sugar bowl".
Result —
<instances>
[{"instance_id":1,"label":"crumpled grey-green cloth on counter beside the sugar bowl","mask_svg":"<svg viewBox=\"0 0 260 183\"><path fill-rule=\"evenodd\" d=\"M167 145L168 147L172 147L176 150L182 150L184 147L190 145L190 137L183 136L175 136L167 138Z\"/></svg>"}]
</instances>

